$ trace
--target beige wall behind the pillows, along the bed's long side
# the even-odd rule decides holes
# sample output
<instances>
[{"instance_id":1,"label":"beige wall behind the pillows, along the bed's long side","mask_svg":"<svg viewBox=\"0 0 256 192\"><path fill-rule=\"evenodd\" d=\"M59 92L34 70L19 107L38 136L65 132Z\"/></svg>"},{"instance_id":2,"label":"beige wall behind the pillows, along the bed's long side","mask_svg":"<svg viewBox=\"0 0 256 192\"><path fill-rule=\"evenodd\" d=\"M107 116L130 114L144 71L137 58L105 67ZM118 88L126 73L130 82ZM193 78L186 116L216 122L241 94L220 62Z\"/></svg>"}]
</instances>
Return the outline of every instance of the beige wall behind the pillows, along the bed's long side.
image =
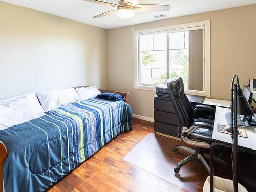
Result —
<instances>
[{"instance_id":1,"label":"beige wall behind the pillows, along the bed's long side","mask_svg":"<svg viewBox=\"0 0 256 192\"><path fill-rule=\"evenodd\" d=\"M106 30L0 1L0 98L108 87Z\"/></svg>"}]
</instances>

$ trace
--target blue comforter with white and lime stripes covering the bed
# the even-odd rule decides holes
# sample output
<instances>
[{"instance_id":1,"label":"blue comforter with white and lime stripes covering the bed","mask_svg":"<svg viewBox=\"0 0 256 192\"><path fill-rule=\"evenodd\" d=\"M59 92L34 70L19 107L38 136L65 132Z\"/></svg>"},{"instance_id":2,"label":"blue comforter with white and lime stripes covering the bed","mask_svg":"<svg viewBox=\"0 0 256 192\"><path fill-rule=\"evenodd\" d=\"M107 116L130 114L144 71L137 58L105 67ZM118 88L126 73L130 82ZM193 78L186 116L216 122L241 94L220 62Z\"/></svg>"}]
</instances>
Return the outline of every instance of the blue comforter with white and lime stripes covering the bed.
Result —
<instances>
[{"instance_id":1,"label":"blue comforter with white and lime stripes covering the bed","mask_svg":"<svg viewBox=\"0 0 256 192\"><path fill-rule=\"evenodd\" d=\"M45 191L118 134L130 130L128 104L91 98L0 131L0 141L8 150L5 191Z\"/></svg>"}]
</instances>

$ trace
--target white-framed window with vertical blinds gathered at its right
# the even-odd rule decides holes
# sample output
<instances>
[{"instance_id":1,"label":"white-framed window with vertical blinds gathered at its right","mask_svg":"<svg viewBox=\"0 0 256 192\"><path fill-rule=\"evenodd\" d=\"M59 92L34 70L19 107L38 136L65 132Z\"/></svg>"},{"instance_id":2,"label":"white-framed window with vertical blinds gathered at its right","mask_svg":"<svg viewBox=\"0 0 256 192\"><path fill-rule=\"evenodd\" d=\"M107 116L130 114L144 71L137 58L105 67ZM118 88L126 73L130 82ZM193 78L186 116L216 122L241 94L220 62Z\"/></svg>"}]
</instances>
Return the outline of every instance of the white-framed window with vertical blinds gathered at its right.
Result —
<instances>
[{"instance_id":1,"label":"white-framed window with vertical blinds gathered at its right","mask_svg":"<svg viewBox=\"0 0 256 192\"><path fill-rule=\"evenodd\" d=\"M210 22L134 32L134 87L155 90L182 77L185 92L210 96Z\"/></svg>"}]
</instances>

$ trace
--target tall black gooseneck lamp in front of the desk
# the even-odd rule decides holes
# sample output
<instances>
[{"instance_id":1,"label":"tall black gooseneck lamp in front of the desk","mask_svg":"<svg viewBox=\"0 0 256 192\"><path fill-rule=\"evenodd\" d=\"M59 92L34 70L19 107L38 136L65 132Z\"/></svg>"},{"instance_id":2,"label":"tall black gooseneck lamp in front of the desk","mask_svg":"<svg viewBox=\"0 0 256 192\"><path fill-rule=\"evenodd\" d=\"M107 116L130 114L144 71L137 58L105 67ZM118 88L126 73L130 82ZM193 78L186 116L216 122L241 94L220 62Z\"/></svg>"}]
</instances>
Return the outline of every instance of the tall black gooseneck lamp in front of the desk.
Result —
<instances>
[{"instance_id":1,"label":"tall black gooseneck lamp in front of the desk","mask_svg":"<svg viewBox=\"0 0 256 192\"><path fill-rule=\"evenodd\" d=\"M237 79L237 83L234 80ZM238 192L238 127L237 114L253 115L250 104L243 95L242 89L239 85L237 75L232 78L231 84L231 129L232 129L232 169L233 169L233 187L234 192Z\"/></svg>"}]
</instances>

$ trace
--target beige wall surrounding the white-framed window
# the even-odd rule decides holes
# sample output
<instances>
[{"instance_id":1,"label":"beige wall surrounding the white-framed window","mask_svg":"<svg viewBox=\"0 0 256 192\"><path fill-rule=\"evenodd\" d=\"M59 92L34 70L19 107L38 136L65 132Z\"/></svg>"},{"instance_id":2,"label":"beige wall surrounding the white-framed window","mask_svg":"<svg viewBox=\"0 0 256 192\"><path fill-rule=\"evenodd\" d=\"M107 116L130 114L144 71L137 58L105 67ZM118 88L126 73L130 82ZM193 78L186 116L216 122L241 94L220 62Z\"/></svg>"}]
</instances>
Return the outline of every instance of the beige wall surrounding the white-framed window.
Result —
<instances>
[{"instance_id":1,"label":"beige wall surrounding the white-framed window","mask_svg":"<svg viewBox=\"0 0 256 192\"><path fill-rule=\"evenodd\" d=\"M152 23L135 25L142 30L211 20L211 98L230 100L233 74L241 84L256 78L256 4ZM131 92L134 114L153 117L154 91L133 88L133 32L131 27L108 30L109 88Z\"/></svg>"}]
</instances>

